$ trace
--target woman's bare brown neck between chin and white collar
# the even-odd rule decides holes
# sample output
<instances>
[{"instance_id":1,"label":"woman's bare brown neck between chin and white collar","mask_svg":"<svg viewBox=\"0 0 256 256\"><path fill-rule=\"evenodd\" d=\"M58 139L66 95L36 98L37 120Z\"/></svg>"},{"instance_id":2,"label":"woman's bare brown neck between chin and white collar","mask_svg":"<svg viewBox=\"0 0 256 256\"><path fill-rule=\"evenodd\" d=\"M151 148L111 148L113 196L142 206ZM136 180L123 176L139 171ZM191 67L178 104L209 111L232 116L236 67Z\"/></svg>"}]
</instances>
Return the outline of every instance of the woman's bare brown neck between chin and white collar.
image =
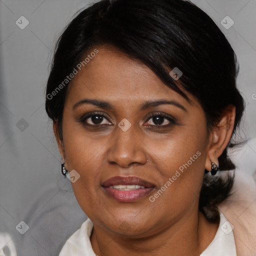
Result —
<instances>
[{"instance_id":1,"label":"woman's bare brown neck between chin and white collar","mask_svg":"<svg viewBox=\"0 0 256 256\"><path fill-rule=\"evenodd\" d=\"M198 256L213 240L219 223L209 223L200 211L184 215L174 224L167 225L150 235L120 235L93 226L91 245L98 256L169 255Z\"/></svg>"}]
</instances>

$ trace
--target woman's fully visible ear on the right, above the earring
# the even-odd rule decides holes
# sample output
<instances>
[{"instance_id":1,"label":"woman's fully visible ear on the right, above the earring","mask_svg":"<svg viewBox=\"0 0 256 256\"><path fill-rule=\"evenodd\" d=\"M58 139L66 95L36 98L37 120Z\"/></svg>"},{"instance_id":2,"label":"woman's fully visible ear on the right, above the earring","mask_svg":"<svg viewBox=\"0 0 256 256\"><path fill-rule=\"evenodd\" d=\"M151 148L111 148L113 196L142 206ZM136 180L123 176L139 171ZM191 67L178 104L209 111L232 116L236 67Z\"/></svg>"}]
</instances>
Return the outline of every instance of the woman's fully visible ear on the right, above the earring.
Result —
<instances>
[{"instance_id":1,"label":"woman's fully visible ear on the right, above the earring","mask_svg":"<svg viewBox=\"0 0 256 256\"><path fill-rule=\"evenodd\" d=\"M208 153L205 162L206 170L211 169L211 161L219 165L218 157L222 154L231 138L234 127L234 119L235 106L226 106L226 108L222 111L218 123L212 128L209 135Z\"/></svg>"}]
</instances>

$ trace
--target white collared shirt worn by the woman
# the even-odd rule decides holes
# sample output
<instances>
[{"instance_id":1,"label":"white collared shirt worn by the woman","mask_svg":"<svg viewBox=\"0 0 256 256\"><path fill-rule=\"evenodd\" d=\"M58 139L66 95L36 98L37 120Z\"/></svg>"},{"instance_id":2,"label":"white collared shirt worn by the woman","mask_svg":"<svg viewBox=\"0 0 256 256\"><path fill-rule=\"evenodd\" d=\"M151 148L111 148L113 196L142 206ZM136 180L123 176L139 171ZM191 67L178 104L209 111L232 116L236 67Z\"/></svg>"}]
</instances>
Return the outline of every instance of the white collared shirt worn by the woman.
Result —
<instances>
[{"instance_id":1,"label":"white collared shirt worn by the woman","mask_svg":"<svg viewBox=\"0 0 256 256\"><path fill-rule=\"evenodd\" d=\"M96 256L90 243L92 221L87 218L64 243L59 256ZM230 223L220 212L220 222L214 239L200 256L236 256L233 231Z\"/></svg>"}]
</instances>

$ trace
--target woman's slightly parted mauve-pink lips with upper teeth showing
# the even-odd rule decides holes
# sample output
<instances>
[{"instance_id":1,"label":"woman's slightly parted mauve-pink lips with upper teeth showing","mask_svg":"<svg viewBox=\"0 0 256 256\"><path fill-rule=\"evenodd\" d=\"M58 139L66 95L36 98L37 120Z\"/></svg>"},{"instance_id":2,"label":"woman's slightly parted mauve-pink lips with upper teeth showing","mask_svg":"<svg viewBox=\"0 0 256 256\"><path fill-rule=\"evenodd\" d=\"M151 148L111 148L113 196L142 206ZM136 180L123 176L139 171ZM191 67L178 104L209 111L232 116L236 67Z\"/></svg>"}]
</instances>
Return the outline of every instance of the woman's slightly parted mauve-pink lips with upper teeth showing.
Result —
<instances>
[{"instance_id":1,"label":"woman's slightly parted mauve-pink lips with upper teeth showing","mask_svg":"<svg viewBox=\"0 0 256 256\"><path fill-rule=\"evenodd\" d=\"M154 185L135 176L114 176L102 183L106 194L120 202L132 202L148 195Z\"/></svg>"}]
</instances>

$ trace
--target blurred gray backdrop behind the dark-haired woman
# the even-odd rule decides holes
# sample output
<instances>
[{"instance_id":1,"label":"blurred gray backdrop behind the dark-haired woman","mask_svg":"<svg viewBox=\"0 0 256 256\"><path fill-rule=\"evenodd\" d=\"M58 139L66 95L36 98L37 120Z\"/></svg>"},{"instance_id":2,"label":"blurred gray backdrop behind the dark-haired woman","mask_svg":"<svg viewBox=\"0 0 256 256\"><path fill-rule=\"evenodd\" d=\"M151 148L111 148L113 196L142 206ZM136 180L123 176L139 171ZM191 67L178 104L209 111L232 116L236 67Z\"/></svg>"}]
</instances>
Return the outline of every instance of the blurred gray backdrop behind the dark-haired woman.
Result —
<instances>
[{"instance_id":1,"label":"blurred gray backdrop behind the dark-haired woman","mask_svg":"<svg viewBox=\"0 0 256 256\"><path fill-rule=\"evenodd\" d=\"M61 158L44 110L44 88L57 36L89 2L0 0L0 231L11 234L18 255L56 255L86 218L69 180L60 173ZM213 18L237 55L237 84L246 101L241 135L251 139L233 157L238 171L252 175L256 170L256 1L192 2ZM15 24L22 15L29 21L24 29ZM234 20L229 29L220 23L226 15ZM28 124L24 130L16 125L25 123L21 118ZM29 225L23 235L15 229L21 220Z\"/></svg>"}]
</instances>

